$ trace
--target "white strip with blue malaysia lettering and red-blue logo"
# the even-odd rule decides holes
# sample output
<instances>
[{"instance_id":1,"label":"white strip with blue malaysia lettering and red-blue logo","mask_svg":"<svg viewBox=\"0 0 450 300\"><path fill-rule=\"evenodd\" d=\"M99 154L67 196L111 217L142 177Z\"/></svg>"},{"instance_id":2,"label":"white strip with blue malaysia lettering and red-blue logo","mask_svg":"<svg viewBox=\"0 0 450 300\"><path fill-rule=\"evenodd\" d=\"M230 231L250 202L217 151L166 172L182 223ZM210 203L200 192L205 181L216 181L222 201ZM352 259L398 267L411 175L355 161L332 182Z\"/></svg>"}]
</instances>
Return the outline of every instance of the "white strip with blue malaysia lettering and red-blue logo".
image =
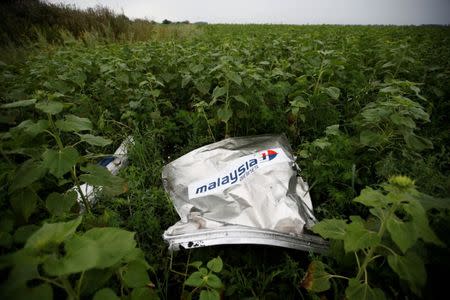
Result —
<instances>
[{"instance_id":1,"label":"white strip with blue malaysia lettering and red-blue logo","mask_svg":"<svg viewBox=\"0 0 450 300\"><path fill-rule=\"evenodd\" d=\"M189 199L222 192L226 188L245 180L259 168L289 161L290 159L281 148L267 149L240 157L231 161L228 167L216 175L190 184L188 186Z\"/></svg>"}]
</instances>

